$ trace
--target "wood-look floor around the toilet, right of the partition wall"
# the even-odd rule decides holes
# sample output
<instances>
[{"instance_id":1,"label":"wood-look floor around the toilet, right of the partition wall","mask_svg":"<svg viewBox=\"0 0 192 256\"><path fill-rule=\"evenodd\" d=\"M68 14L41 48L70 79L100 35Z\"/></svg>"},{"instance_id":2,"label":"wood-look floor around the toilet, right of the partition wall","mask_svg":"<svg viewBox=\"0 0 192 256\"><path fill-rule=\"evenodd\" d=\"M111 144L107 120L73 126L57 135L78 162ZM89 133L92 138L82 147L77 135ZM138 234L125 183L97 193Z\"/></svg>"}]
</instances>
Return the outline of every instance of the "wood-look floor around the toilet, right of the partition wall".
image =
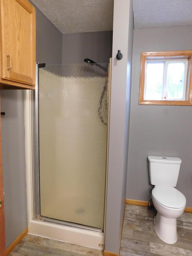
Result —
<instances>
[{"instance_id":1,"label":"wood-look floor around the toilet, right of the partition wall","mask_svg":"<svg viewBox=\"0 0 192 256\"><path fill-rule=\"evenodd\" d=\"M120 256L192 256L192 214L184 212L177 219L178 240L173 245L163 242L156 235L153 227L155 215L155 208L125 206Z\"/></svg>"}]
</instances>

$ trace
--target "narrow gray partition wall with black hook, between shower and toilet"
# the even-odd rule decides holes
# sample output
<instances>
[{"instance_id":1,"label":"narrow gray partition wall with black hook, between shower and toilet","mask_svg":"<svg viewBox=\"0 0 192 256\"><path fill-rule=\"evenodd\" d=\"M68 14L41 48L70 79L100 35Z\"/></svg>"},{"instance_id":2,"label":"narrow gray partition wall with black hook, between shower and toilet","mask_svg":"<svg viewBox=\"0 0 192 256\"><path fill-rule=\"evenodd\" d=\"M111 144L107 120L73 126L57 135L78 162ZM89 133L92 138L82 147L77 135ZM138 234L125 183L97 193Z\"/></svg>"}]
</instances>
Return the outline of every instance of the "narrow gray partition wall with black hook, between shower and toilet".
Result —
<instances>
[{"instance_id":1,"label":"narrow gray partition wall with black hook, between shower and toilet","mask_svg":"<svg viewBox=\"0 0 192 256\"><path fill-rule=\"evenodd\" d=\"M132 0L115 0L105 250L117 254L126 198L132 49Z\"/></svg>"}]
</instances>

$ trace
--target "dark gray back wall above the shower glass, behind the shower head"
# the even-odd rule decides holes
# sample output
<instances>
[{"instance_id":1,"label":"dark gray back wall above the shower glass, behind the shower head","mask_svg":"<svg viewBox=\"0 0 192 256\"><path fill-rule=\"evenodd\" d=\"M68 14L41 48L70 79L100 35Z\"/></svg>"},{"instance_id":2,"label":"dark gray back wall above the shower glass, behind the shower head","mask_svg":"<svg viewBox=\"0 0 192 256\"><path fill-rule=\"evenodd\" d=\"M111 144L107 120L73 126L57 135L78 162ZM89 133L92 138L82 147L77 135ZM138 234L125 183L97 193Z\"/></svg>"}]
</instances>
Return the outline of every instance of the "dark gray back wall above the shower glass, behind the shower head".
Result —
<instances>
[{"instance_id":1,"label":"dark gray back wall above the shower glass, behind the shower head","mask_svg":"<svg viewBox=\"0 0 192 256\"><path fill-rule=\"evenodd\" d=\"M112 57L112 31L63 35L62 64L80 64L88 58L108 63Z\"/></svg>"}]
</instances>

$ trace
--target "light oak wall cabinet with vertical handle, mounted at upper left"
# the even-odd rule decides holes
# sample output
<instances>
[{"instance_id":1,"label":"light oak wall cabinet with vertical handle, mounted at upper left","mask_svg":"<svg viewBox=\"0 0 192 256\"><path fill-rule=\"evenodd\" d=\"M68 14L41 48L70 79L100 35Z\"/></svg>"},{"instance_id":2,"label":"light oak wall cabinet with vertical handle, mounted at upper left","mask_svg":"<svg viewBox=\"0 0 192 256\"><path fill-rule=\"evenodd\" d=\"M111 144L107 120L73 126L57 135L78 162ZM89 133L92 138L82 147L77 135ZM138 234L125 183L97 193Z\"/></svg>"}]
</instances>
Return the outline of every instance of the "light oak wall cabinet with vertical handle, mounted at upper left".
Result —
<instances>
[{"instance_id":1,"label":"light oak wall cabinet with vertical handle, mounted at upper left","mask_svg":"<svg viewBox=\"0 0 192 256\"><path fill-rule=\"evenodd\" d=\"M0 0L1 78L35 85L35 8L27 0Z\"/></svg>"}]
</instances>

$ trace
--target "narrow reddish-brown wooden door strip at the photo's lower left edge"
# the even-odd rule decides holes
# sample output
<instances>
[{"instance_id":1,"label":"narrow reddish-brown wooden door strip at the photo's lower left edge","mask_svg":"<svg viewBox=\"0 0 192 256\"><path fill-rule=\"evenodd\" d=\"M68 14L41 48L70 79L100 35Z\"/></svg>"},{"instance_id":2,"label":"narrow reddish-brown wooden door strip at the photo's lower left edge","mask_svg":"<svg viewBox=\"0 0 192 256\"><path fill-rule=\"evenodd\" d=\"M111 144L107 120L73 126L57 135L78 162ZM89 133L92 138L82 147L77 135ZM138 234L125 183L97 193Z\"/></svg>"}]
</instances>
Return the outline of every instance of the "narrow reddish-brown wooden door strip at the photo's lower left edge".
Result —
<instances>
[{"instance_id":1,"label":"narrow reddish-brown wooden door strip at the photo's lower left edge","mask_svg":"<svg viewBox=\"0 0 192 256\"><path fill-rule=\"evenodd\" d=\"M0 118L0 255L5 255L5 218L4 218L4 191L1 155L1 118Z\"/></svg>"}]
</instances>

